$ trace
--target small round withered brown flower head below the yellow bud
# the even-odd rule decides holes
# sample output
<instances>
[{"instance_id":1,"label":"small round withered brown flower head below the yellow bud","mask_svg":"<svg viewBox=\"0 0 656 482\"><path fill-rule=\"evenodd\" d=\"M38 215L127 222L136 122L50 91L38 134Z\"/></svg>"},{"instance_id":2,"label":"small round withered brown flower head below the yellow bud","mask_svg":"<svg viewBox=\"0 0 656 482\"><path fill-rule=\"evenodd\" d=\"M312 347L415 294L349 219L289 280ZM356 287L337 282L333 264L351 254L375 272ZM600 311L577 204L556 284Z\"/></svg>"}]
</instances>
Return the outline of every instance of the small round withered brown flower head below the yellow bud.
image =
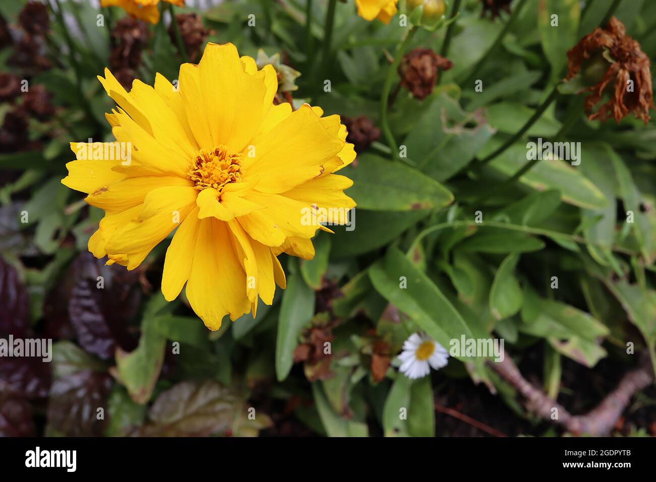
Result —
<instances>
[{"instance_id":1,"label":"small round withered brown flower head below the yellow bud","mask_svg":"<svg viewBox=\"0 0 656 482\"><path fill-rule=\"evenodd\" d=\"M419 100L433 91L440 70L449 70L453 62L431 49L414 49L405 54L399 64L401 85Z\"/></svg>"}]
</instances>

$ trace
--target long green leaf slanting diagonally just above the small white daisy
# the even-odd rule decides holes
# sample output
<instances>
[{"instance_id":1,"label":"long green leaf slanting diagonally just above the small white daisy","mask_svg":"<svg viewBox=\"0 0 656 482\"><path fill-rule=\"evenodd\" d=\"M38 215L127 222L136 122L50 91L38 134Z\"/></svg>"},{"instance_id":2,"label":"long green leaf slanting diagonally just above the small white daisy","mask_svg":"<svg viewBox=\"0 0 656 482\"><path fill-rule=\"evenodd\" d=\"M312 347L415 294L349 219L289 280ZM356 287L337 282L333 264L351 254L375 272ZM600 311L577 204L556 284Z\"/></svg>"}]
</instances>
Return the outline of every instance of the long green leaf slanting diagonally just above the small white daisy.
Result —
<instances>
[{"instance_id":1,"label":"long green leaf slanting diagonally just above the small white daisy","mask_svg":"<svg viewBox=\"0 0 656 482\"><path fill-rule=\"evenodd\" d=\"M466 338L474 338L472 329L435 283L397 248L388 249L384 260L369 268L369 277L386 300L441 346L448 347L453 338L460 339L463 334ZM402 288L404 280L407 287Z\"/></svg>"}]
</instances>

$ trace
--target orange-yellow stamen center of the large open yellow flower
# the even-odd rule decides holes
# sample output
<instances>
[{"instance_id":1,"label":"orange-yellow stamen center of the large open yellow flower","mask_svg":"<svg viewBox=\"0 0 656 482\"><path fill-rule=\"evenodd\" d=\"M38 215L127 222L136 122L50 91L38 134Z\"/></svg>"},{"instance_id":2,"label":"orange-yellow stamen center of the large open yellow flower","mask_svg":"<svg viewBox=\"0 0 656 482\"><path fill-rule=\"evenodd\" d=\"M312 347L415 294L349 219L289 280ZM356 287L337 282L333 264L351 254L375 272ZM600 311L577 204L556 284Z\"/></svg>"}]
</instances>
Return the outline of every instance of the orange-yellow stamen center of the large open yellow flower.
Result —
<instances>
[{"instance_id":1,"label":"orange-yellow stamen center of the large open yellow flower","mask_svg":"<svg viewBox=\"0 0 656 482\"><path fill-rule=\"evenodd\" d=\"M226 184L241 180L242 157L241 153L229 154L226 146L218 146L213 150L201 149L187 174L196 183L197 190L215 188L221 191Z\"/></svg>"}]
</instances>

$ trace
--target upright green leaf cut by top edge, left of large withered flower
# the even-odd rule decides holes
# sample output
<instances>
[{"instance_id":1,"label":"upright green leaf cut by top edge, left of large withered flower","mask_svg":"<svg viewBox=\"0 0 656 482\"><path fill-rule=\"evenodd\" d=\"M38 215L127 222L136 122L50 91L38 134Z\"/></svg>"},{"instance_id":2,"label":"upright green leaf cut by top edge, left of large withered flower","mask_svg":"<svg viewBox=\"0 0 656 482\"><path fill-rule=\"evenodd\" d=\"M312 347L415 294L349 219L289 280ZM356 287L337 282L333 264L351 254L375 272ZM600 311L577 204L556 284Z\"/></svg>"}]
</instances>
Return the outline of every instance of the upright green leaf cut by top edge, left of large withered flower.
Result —
<instances>
[{"instance_id":1,"label":"upright green leaf cut by top edge, left of large withered flower","mask_svg":"<svg viewBox=\"0 0 656 482\"><path fill-rule=\"evenodd\" d=\"M577 43L580 18L579 0L540 0L537 25L554 80L560 79L567 65L567 50Z\"/></svg>"}]
</instances>

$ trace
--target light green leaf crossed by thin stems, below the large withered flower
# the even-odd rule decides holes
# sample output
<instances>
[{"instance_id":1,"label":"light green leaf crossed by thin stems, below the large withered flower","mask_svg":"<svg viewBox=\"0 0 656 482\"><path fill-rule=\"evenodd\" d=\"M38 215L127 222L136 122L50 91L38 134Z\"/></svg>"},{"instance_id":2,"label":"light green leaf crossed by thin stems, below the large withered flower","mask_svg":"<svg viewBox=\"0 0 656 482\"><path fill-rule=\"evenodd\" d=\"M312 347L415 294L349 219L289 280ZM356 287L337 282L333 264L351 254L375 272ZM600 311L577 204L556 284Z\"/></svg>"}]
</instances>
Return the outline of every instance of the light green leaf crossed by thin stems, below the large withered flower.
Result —
<instances>
[{"instance_id":1,"label":"light green leaf crossed by thin stems, below the large withered flower","mask_svg":"<svg viewBox=\"0 0 656 482\"><path fill-rule=\"evenodd\" d=\"M485 152L480 153L480 155L485 156L498 146L499 144L497 144L495 138L494 142L485 144ZM489 166L510 177L522 169L528 162L527 153L526 144L514 144L491 161ZM592 161L590 159L583 162ZM569 163L558 159L539 161L519 181L539 191L548 189L559 190L562 193L562 200L565 203L586 209L605 208L609 203L608 199L604 197L604 193L592 184L581 171L574 169Z\"/></svg>"}]
</instances>

